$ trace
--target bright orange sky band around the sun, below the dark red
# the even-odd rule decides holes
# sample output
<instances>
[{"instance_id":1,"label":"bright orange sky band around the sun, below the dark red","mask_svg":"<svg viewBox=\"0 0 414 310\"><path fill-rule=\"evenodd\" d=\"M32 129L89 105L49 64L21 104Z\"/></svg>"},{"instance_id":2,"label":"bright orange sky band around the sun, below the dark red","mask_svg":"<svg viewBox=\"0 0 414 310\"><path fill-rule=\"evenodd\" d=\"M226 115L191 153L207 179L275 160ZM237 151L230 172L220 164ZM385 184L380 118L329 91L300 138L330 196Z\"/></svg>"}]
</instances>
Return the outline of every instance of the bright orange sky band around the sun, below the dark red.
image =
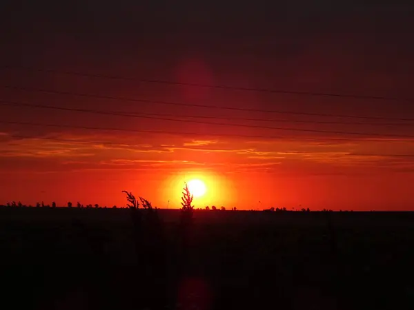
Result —
<instances>
[{"instance_id":1,"label":"bright orange sky band around the sun, below the dark red","mask_svg":"<svg viewBox=\"0 0 414 310\"><path fill-rule=\"evenodd\" d=\"M168 200L170 207L178 207L181 185L194 177L204 180L208 187L206 197L195 199L196 207L393 209L409 208L413 199L410 158L348 155L384 152L387 143L193 140L175 136L162 136L161 142L160 137L151 135L54 136L133 141L137 146L35 139L3 142L1 163L8 167L2 167L1 201L34 204L37 200L56 200L61 205L79 200L85 205L122 205L125 199L121 190L126 189L158 207L166 207ZM394 142L394 152L407 143Z\"/></svg>"}]
</instances>

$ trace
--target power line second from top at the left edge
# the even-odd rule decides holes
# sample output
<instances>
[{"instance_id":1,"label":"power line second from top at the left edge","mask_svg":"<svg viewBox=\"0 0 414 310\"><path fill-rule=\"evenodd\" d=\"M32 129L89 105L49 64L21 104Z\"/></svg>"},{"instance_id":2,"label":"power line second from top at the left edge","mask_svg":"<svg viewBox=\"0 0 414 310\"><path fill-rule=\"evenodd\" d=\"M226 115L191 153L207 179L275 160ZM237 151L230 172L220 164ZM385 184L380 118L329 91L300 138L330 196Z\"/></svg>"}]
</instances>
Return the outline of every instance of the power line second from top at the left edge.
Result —
<instances>
[{"instance_id":1,"label":"power line second from top at the left edge","mask_svg":"<svg viewBox=\"0 0 414 310\"><path fill-rule=\"evenodd\" d=\"M17 87L11 85L0 85L2 88L10 90L23 90L26 92L44 92L48 94L61 94L69 96L83 96L88 98L96 99L108 99L108 100L117 100L117 101L132 101L132 102L146 102L146 103L155 103L162 105L179 105L185 107L205 107L209 109L218 109L218 110L234 110L234 111L246 111L246 112L264 112L264 113L277 113L277 114L294 114L294 115L306 115L306 116L324 116L324 117L337 117L337 118L361 118L361 119L377 119L377 120L393 120L393 121L414 121L414 118L390 118L383 116L351 116L351 115L342 115L342 114L323 114L323 113L308 113L308 112L293 112L293 111L282 111L282 110L259 110L259 109L249 109L244 107L222 107L219 105L200 105L193 103L180 103L180 102L169 102L169 101L155 101L149 99L134 99L126 98L119 96L103 96L97 94L82 94L77 92L63 92L58 90L44 90L39 88L30 88L30 87Z\"/></svg>"}]
</instances>

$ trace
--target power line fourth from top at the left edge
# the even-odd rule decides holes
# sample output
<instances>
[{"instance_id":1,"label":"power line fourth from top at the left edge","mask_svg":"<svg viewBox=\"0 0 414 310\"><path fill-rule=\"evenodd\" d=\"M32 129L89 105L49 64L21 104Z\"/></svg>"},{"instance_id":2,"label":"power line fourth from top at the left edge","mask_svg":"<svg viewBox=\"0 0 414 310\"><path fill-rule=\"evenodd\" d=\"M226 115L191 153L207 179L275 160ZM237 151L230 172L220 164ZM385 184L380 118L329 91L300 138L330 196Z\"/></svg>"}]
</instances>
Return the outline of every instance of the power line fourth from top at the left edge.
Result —
<instances>
[{"instance_id":1,"label":"power line fourth from top at the left edge","mask_svg":"<svg viewBox=\"0 0 414 310\"><path fill-rule=\"evenodd\" d=\"M43 126L43 127L61 127L61 128L73 128L73 129L84 129L84 130L107 130L117 132L142 132L150 134L172 134L172 135L190 135L190 136L224 136L224 137L235 137L235 138L273 138L273 139L288 139L286 136L263 136L263 135L244 135L244 134L212 134L212 133L201 133L201 132L170 132L166 130L126 130L122 128L113 127L88 127L88 126L75 126L75 125L62 125L62 124L45 124L45 123L30 123L30 122L17 122L17 121L0 121L0 123L8 123L14 125L31 125L31 126ZM349 141L351 138L300 138L306 141L318 141L320 139L324 141ZM364 138L364 141L393 141L392 139L373 139Z\"/></svg>"}]
</instances>

